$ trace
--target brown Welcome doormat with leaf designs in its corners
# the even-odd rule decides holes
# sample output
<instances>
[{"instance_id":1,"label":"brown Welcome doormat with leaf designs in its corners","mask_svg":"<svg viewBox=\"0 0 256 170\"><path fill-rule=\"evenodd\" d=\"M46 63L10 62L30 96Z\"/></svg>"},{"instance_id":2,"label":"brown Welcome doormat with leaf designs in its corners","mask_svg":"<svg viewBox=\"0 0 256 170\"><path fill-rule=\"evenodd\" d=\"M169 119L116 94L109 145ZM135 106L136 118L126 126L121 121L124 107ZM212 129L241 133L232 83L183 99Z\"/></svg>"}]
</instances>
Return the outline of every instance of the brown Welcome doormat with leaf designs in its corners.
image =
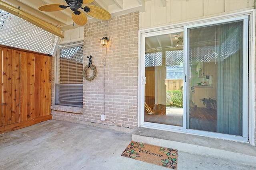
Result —
<instances>
[{"instance_id":1,"label":"brown Welcome doormat with leaf designs in its corners","mask_svg":"<svg viewBox=\"0 0 256 170\"><path fill-rule=\"evenodd\" d=\"M177 169L178 150L132 141L121 154L127 158Z\"/></svg>"}]
</instances>

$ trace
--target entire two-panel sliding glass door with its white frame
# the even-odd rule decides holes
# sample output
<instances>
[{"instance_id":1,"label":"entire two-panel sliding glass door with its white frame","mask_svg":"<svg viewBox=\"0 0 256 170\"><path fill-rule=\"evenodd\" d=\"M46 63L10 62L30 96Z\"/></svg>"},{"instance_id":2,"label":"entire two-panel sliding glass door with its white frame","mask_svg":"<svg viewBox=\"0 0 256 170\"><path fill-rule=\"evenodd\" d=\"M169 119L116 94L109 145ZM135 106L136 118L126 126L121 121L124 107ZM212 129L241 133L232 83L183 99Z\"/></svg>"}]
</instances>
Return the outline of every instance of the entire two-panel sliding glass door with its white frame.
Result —
<instances>
[{"instance_id":1,"label":"entire two-panel sliding glass door with its white frame","mask_svg":"<svg viewBox=\"0 0 256 170\"><path fill-rule=\"evenodd\" d=\"M142 127L248 141L248 16L142 39Z\"/></svg>"}]
</instances>

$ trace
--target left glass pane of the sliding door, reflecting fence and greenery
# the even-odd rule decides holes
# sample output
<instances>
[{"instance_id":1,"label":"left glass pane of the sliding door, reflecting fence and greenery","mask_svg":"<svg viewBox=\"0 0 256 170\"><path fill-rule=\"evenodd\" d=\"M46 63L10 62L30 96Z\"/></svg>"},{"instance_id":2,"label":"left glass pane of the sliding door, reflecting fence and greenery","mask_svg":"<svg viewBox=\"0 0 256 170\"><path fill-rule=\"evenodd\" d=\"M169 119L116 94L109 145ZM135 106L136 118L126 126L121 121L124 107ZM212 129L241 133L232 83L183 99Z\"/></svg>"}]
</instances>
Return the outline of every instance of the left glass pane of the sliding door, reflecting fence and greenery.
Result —
<instances>
[{"instance_id":1,"label":"left glass pane of the sliding door, reflecting fence and greenery","mask_svg":"<svg viewBox=\"0 0 256 170\"><path fill-rule=\"evenodd\" d=\"M145 39L144 121L182 127L183 32Z\"/></svg>"}]
</instances>

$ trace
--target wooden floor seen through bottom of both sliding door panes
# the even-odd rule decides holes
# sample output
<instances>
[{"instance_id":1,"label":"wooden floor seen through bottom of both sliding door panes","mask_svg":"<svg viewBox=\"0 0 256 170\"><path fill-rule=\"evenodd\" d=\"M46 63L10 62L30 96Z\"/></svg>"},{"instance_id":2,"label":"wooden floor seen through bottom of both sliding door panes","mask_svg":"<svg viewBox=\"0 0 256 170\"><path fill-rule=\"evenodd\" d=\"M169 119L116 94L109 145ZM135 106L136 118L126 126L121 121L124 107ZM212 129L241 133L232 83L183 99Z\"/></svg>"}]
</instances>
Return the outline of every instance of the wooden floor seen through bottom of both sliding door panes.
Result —
<instances>
[{"instance_id":1,"label":"wooden floor seen through bottom of both sliding door panes","mask_svg":"<svg viewBox=\"0 0 256 170\"><path fill-rule=\"evenodd\" d=\"M182 127L182 108L166 107L166 114L145 113L146 122ZM216 132L216 110L202 107L189 107L189 129Z\"/></svg>"}]
</instances>

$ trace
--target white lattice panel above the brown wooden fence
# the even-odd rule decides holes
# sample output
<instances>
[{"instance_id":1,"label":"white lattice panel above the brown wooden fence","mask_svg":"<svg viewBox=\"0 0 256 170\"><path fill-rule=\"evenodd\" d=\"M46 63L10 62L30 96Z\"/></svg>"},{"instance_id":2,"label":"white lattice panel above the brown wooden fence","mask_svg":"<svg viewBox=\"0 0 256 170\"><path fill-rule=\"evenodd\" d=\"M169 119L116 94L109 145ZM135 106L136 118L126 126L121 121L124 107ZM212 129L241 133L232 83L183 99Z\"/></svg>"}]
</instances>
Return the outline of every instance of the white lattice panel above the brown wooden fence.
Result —
<instances>
[{"instance_id":1,"label":"white lattice panel above the brown wooden fence","mask_svg":"<svg viewBox=\"0 0 256 170\"><path fill-rule=\"evenodd\" d=\"M58 36L0 10L0 44L52 55L57 40Z\"/></svg>"}]
</instances>

